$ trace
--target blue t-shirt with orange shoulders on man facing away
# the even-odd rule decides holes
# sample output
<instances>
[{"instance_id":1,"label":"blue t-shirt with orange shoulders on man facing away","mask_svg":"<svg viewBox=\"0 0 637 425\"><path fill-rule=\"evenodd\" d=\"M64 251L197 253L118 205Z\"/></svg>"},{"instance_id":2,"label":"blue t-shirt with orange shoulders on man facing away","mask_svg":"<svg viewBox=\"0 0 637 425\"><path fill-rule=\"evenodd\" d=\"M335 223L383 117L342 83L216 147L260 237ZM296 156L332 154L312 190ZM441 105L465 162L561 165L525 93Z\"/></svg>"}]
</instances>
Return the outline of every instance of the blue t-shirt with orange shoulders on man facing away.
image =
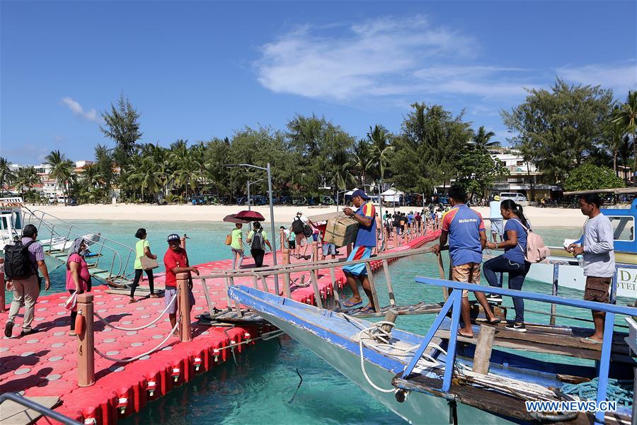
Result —
<instances>
[{"instance_id":1,"label":"blue t-shirt with orange shoulders on man facing away","mask_svg":"<svg viewBox=\"0 0 637 425\"><path fill-rule=\"evenodd\" d=\"M442 230L449 232L449 255L454 266L482 262L480 232L485 230L479 212L464 204L456 205L442 216Z\"/></svg>"}]
</instances>

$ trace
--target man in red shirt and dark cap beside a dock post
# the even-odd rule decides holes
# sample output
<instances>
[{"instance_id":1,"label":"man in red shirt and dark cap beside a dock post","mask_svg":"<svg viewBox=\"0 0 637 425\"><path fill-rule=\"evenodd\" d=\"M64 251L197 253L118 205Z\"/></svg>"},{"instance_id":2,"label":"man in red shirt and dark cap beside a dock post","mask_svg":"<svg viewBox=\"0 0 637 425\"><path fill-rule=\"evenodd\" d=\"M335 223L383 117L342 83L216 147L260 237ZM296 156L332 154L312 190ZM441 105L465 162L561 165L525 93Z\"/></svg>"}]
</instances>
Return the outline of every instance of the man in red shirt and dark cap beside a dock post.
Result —
<instances>
[{"instance_id":1,"label":"man in red shirt and dark cap beside a dock post","mask_svg":"<svg viewBox=\"0 0 637 425\"><path fill-rule=\"evenodd\" d=\"M188 273L188 316L193 310L195 305L195 296L193 295L193 276L191 273L195 273L199 276L199 270L196 267L190 267L188 263L188 254L185 249L181 247L181 238L176 233L171 233L166 239L168 242L168 250L163 255L163 265L166 267L166 290L163 293L164 305L168 307L168 318L171 320L171 329L175 328L177 324L177 305L178 300L175 297L177 293L177 275L178 273ZM175 299L173 300L173 297ZM173 332L174 336L179 336L177 329Z\"/></svg>"}]
</instances>

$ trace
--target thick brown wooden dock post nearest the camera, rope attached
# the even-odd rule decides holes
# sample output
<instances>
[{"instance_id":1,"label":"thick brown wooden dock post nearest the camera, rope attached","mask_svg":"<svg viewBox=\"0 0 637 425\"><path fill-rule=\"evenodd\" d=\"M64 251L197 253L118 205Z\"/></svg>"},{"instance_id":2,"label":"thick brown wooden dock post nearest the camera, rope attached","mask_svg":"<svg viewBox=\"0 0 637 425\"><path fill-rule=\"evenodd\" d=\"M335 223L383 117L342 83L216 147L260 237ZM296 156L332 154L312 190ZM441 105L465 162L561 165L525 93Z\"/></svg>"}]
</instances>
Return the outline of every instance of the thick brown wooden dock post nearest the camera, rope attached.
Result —
<instances>
[{"instance_id":1,"label":"thick brown wooden dock post nearest the camera, rope attached","mask_svg":"<svg viewBox=\"0 0 637 425\"><path fill-rule=\"evenodd\" d=\"M90 387L95 383L95 343L93 341L93 294L77 296L78 317L84 321L84 327L77 336L77 386ZM81 315L80 315L81 314Z\"/></svg>"}]
</instances>

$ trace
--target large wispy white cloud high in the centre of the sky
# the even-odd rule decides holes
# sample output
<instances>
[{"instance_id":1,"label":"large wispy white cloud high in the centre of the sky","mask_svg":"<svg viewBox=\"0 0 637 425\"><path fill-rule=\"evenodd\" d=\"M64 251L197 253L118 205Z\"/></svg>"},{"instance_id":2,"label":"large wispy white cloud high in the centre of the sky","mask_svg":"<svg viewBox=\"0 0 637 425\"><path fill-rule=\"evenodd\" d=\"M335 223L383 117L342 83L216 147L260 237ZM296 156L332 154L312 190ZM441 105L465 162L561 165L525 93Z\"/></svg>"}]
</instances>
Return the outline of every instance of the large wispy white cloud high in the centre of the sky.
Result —
<instances>
[{"instance_id":1,"label":"large wispy white cloud high in the centre of the sky","mask_svg":"<svg viewBox=\"0 0 637 425\"><path fill-rule=\"evenodd\" d=\"M350 101L365 96L520 96L529 70L474 64L473 38L423 16L331 28L303 26L262 47L258 81L277 93Z\"/></svg>"}]
</instances>

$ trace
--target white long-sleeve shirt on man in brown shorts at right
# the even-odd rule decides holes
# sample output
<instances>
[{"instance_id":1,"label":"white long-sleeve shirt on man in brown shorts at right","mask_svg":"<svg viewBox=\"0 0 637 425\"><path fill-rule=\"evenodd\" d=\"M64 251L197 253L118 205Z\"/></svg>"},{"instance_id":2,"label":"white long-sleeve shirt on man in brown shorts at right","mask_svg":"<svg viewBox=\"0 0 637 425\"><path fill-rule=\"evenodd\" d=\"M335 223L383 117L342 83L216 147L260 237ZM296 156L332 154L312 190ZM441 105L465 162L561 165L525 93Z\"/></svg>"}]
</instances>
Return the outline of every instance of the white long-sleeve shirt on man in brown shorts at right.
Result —
<instances>
[{"instance_id":1,"label":"white long-sleeve shirt on man in brown shorts at right","mask_svg":"<svg viewBox=\"0 0 637 425\"><path fill-rule=\"evenodd\" d=\"M613 225L601 212L584 225L584 274L609 278L615 273Z\"/></svg>"}]
</instances>

